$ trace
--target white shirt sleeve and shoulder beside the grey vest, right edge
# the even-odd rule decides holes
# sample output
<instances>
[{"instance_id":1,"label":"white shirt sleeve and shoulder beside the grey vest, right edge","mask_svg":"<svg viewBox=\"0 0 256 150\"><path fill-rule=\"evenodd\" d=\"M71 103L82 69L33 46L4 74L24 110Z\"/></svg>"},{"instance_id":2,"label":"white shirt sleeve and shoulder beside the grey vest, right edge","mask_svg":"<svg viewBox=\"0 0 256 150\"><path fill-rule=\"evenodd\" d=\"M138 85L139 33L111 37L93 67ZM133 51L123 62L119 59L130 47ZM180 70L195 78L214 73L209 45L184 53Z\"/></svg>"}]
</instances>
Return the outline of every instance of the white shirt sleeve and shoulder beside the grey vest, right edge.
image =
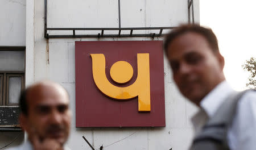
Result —
<instances>
[{"instance_id":1,"label":"white shirt sleeve and shoulder beside the grey vest, right edge","mask_svg":"<svg viewBox=\"0 0 256 150\"><path fill-rule=\"evenodd\" d=\"M238 101L236 115L229 128L231 149L253 149L256 131L256 91L246 91Z\"/></svg>"}]
</instances>

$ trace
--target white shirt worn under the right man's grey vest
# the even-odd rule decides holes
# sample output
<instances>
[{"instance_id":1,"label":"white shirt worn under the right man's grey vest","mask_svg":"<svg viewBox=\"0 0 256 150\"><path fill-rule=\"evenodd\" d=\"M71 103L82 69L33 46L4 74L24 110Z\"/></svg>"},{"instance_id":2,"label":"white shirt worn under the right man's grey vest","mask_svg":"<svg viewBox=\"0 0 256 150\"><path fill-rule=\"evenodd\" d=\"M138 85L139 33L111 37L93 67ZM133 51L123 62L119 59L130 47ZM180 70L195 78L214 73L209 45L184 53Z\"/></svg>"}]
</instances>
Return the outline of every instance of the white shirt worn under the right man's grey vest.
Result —
<instances>
[{"instance_id":1,"label":"white shirt worn under the right man's grey vest","mask_svg":"<svg viewBox=\"0 0 256 150\"><path fill-rule=\"evenodd\" d=\"M223 81L203 98L199 112L191 118L195 135L200 132L209 118L212 118L229 94L234 92L228 82ZM256 149L256 92L249 91L238 101L232 126L228 128L228 144L231 150Z\"/></svg>"}]
</instances>

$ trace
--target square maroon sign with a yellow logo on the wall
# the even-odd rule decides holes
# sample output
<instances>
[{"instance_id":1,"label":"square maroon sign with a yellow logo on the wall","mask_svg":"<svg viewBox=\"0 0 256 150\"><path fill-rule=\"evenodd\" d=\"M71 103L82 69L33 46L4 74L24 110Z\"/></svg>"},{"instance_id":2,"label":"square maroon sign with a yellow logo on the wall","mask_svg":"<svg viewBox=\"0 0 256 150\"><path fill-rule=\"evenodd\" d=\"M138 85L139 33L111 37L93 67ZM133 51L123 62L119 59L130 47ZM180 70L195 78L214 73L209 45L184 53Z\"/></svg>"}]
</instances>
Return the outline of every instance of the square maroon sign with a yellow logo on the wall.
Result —
<instances>
[{"instance_id":1,"label":"square maroon sign with a yellow logo on the wall","mask_svg":"<svg viewBox=\"0 0 256 150\"><path fill-rule=\"evenodd\" d=\"M76 127L164 127L162 41L76 41Z\"/></svg>"}]
</instances>

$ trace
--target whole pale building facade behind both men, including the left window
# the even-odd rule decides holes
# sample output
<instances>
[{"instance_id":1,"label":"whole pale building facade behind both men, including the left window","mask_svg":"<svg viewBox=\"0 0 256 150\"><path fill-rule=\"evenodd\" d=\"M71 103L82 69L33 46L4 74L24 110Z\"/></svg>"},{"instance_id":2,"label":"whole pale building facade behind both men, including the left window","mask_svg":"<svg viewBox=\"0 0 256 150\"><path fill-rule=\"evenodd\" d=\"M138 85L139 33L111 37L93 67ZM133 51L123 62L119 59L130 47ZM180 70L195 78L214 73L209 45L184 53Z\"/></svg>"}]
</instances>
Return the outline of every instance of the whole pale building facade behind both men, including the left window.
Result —
<instances>
[{"instance_id":1,"label":"whole pale building facade behind both men, including the left window","mask_svg":"<svg viewBox=\"0 0 256 150\"><path fill-rule=\"evenodd\" d=\"M193 136L189 118L196 107L180 95L166 57L165 127L77 128L76 82L80 81L75 74L75 41L163 40L170 29L160 27L199 22L199 0L2 0L0 16L0 112L6 119L0 120L0 148L26 142L26 134L8 115L16 116L20 91L44 79L59 82L71 97L73 119L67 143L71 149L90 149L82 136L95 149L189 147Z\"/></svg>"}]
</instances>

